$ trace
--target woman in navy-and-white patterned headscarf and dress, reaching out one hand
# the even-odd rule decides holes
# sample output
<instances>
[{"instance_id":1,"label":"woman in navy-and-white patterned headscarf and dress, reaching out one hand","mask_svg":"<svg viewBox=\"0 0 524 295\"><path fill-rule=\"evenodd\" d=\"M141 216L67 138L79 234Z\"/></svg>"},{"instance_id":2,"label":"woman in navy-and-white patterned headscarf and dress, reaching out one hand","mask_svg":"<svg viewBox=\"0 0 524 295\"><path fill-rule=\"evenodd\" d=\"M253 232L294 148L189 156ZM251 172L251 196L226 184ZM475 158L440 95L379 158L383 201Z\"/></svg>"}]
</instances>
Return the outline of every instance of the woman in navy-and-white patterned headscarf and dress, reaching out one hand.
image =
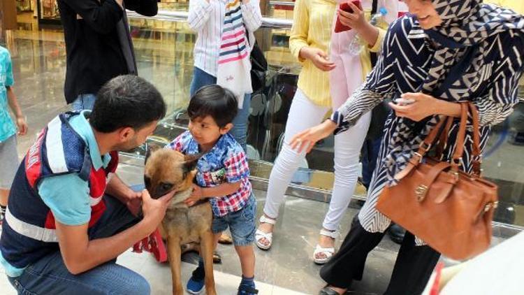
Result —
<instances>
[{"instance_id":1,"label":"woman in navy-and-white patterned headscarf and dress, reaching out one hand","mask_svg":"<svg viewBox=\"0 0 524 295\"><path fill-rule=\"evenodd\" d=\"M330 120L297 134L291 145L309 148L333 131L345 131L385 98L398 99L386 122L379 161L367 201L344 243L321 269L328 286L321 294L342 294L360 280L367 254L384 236L391 220L375 208L386 185L402 171L439 115L460 117L460 101L471 101L480 115L481 149L491 126L508 117L518 103L518 79L524 70L524 19L512 10L481 0L405 0L409 15L391 24L381 56L365 84ZM409 104L407 104L409 103ZM456 146L458 122L448 134L443 161ZM471 132L470 129L468 132ZM472 136L461 161L472 169ZM407 233L386 294L420 294L440 254Z\"/></svg>"}]
</instances>

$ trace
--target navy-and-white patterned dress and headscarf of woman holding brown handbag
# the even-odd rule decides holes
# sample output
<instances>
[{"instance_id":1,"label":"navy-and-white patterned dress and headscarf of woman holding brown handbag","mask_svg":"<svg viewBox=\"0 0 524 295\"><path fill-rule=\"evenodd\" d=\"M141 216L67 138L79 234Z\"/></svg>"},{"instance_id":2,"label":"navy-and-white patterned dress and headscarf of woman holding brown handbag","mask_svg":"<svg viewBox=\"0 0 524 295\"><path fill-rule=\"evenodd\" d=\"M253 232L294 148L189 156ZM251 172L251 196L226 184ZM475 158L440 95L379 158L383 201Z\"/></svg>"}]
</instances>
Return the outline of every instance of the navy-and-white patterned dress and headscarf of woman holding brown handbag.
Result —
<instances>
[{"instance_id":1,"label":"navy-and-white patterned dress and headscarf of woman holding brown handbag","mask_svg":"<svg viewBox=\"0 0 524 295\"><path fill-rule=\"evenodd\" d=\"M502 122L518 103L518 79L524 70L521 57L524 30L522 18L518 19L521 16L511 10L481 6L477 2L433 1L444 24L459 22L462 18L469 21L464 24L472 31L425 31L416 17L410 15L391 24L377 66L365 84L331 117L339 127L335 132L351 127L383 99L395 99L406 92L423 92L446 101L472 101L479 110L483 150L490 126ZM491 21L482 22L486 19ZM442 86L446 76L453 75L458 69L456 65L463 60L468 62L459 67L462 75ZM366 231L384 232L389 226L391 220L375 209L378 197L386 185L395 185L393 176L405 168L438 120L439 117L434 116L414 122L390 114L367 202L358 215ZM472 127L470 122L468 125L461 163L465 171L472 168ZM449 131L443 160L451 159L457 131L458 120ZM423 245L423 241L417 239L416 244Z\"/></svg>"}]
</instances>

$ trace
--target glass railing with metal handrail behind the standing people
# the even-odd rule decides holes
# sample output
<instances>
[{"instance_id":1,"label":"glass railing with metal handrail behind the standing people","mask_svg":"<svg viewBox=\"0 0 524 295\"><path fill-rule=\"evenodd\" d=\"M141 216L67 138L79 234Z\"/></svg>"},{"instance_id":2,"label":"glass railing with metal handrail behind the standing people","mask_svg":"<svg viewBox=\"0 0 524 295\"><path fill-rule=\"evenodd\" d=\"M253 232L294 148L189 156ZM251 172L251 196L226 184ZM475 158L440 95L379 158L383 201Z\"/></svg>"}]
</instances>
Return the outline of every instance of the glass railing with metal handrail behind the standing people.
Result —
<instances>
[{"instance_id":1,"label":"glass railing with metal handrail behind the standing people","mask_svg":"<svg viewBox=\"0 0 524 295\"><path fill-rule=\"evenodd\" d=\"M269 1L269 14L281 19L265 18L264 26L256 32L269 64L265 88L253 95L249 117L248 156L257 180L269 177L272 162L282 146L289 107L296 92L300 66L289 52L292 5L292 2ZM184 8L184 4L177 4L177 8ZM157 85L168 102L168 116L148 140L163 145L187 129L184 110L189 103L196 36L184 22L186 11L160 11L154 18L129 15L140 75ZM483 167L484 175L500 185L495 221L524 226L524 147L508 143L511 120L493 128ZM141 147L133 154L140 157L144 152ZM333 136L317 144L300 166L293 176L294 187L298 185L318 194L291 191L327 201L333 186ZM356 198L365 198L363 187L358 187Z\"/></svg>"}]
</instances>

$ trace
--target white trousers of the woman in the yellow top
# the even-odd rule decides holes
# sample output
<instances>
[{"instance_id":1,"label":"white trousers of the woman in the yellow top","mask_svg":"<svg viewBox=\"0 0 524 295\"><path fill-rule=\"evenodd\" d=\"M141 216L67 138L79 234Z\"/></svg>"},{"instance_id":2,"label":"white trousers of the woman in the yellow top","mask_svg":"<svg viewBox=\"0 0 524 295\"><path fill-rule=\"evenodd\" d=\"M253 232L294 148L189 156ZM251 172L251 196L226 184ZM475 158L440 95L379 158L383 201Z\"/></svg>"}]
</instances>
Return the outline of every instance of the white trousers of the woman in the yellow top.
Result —
<instances>
[{"instance_id":1,"label":"white trousers of the woman in the yellow top","mask_svg":"<svg viewBox=\"0 0 524 295\"><path fill-rule=\"evenodd\" d=\"M289 145L291 138L300 131L321 123L328 110L328 107L316 106L300 89L297 89L286 122L284 144L269 178L268 195L264 206L264 213L268 217L278 217L279 207L284 201L284 194L293 173L305 157L305 152L299 154L291 150ZM354 194L360 173L358 160L370 120L371 113L367 113L354 127L335 136L335 184L329 210L323 221L323 227L330 231L338 229L340 220Z\"/></svg>"}]
</instances>

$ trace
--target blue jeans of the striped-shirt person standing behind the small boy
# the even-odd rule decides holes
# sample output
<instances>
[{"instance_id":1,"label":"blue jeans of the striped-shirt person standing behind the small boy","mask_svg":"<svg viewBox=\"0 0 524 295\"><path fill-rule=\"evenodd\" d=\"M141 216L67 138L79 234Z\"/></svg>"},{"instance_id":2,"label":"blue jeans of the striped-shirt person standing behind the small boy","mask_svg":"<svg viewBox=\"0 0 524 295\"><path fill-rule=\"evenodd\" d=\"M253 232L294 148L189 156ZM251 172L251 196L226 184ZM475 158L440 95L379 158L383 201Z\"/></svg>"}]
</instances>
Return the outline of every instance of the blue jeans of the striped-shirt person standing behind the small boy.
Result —
<instances>
[{"instance_id":1,"label":"blue jeans of the striped-shirt person standing behind the small boy","mask_svg":"<svg viewBox=\"0 0 524 295\"><path fill-rule=\"evenodd\" d=\"M201 87L207 85L213 85L217 83L217 77L210 75L201 69L198 69L196 66L193 71L193 80L191 80L191 87L189 87L189 94L191 97L201 89ZM249 108L251 107L251 94L245 94L244 103L242 103L242 108L238 109L236 117L233 119L233 129L229 131L235 140L240 143L242 149L246 150L247 145L247 120L249 118Z\"/></svg>"}]
</instances>

